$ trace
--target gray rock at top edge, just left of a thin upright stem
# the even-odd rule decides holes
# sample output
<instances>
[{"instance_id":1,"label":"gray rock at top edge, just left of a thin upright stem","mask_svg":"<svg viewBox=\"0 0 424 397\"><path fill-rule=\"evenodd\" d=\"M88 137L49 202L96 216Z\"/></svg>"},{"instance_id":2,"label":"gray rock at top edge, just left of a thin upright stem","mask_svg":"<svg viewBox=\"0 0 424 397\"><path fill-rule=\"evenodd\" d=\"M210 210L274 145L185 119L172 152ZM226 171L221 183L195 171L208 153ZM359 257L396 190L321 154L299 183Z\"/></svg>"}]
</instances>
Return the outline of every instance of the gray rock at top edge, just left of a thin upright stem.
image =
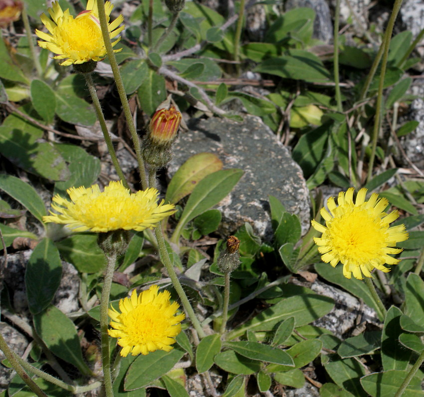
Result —
<instances>
[{"instance_id":1,"label":"gray rock at top edge, just left of a thin upright stem","mask_svg":"<svg viewBox=\"0 0 424 397\"><path fill-rule=\"evenodd\" d=\"M333 40L333 24L330 7L325 0L286 0L285 9L309 7L315 11L313 37L330 43Z\"/></svg>"}]
</instances>

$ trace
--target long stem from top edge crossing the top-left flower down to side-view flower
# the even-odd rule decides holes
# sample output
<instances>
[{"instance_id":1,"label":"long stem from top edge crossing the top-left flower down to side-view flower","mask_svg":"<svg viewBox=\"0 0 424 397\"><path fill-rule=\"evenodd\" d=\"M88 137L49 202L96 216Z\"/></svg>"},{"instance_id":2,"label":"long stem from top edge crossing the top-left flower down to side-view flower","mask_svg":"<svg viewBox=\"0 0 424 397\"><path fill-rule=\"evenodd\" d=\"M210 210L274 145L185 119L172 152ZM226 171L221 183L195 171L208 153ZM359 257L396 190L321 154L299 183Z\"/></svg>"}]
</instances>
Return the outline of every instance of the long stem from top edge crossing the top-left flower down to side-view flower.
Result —
<instances>
[{"instance_id":1,"label":"long stem from top edge crossing the top-left flower down to side-view flower","mask_svg":"<svg viewBox=\"0 0 424 397\"><path fill-rule=\"evenodd\" d=\"M127 120L128 129L130 130L131 138L133 140L134 149L136 152L141 186L143 190L146 190L147 178L146 178L146 170L144 168L143 157L141 155L140 140L137 135L136 127L134 125L133 116L131 114L130 105L127 100L127 94L125 92L124 83L122 82L121 73L119 72L119 67L118 67L118 62L116 61L115 52L113 52L112 42L110 41L104 2L97 1L97 8L99 13L100 26L102 28L103 40L104 40L106 51L107 51L107 56L109 58L110 66L112 67L113 77L115 78L115 83L116 83L116 88L118 89L119 97L122 103L122 108L125 114L125 119Z\"/></svg>"}]
</instances>

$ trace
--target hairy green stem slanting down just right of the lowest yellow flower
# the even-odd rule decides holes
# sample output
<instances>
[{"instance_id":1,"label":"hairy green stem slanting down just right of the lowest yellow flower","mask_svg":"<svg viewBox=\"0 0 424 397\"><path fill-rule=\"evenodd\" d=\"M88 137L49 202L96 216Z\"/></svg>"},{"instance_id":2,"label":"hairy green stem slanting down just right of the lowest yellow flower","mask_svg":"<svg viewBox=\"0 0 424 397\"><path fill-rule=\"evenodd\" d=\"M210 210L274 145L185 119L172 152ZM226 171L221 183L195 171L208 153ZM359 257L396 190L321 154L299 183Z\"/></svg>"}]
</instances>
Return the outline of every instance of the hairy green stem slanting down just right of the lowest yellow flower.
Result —
<instances>
[{"instance_id":1,"label":"hairy green stem slanting down just right of the lowest yellow flower","mask_svg":"<svg viewBox=\"0 0 424 397\"><path fill-rule=\"evenodd\" d=\"M187 298L186 293L183 290L180 280L178 280L177 273L175 273L174 267L172 266L171 258L169 257L169 253L165 245L164 236L162 234L162 228L160 226L155 229L155 234L156 239L158 241L161 260L165 265L166 270L168 271L169 277L171 278L171 281L174 284L174 288L177 291L178 296L180 297L185 312L189 315L193 327L197 331L199 337L202 339L206 336L205 332L203 331L202 326L200 325L200 322L196 317L195 311L193 310L193 307L189 299Z\"/></svg>"}]
</instances>

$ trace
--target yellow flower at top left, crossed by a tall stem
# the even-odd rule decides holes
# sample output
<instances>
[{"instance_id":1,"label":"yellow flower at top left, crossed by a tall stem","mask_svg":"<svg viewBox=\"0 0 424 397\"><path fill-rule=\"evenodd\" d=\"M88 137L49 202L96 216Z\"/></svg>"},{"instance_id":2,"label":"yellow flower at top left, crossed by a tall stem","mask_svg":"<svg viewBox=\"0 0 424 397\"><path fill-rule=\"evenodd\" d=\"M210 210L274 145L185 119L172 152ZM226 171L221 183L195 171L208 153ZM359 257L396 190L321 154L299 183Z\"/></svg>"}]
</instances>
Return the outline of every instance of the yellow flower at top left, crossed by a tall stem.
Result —
<instances>
[{"instance_id":1,"label":"yellow flower at top left, crossed by a tall stem","mask_svg":"<svg viewBox=\"0 0 424 397\"><path fill-rule=\"evenodd\" d=\"M112 8L110 1L106 1L105 11L108 22ZM54 59L67 58L61 63L62 66L104 59L106 47L100 28L97 0L88 0L87 9L80 12L75 19L70 15L69 8L63 12L57 1L53 2L48 12L53 21L44 13L41 14L41 21L51 34L36 29L36 35L45 40L39 40L38 45L58 54L53 57ZM124 29L124 26L118 27L123 20L124 17L119 15L112 23L108 23L111 39ZM116 45L119 40L120 38L115 40L112 45ZM121 49L114 51L118 52Z\"/></svg>"}]
</instances>

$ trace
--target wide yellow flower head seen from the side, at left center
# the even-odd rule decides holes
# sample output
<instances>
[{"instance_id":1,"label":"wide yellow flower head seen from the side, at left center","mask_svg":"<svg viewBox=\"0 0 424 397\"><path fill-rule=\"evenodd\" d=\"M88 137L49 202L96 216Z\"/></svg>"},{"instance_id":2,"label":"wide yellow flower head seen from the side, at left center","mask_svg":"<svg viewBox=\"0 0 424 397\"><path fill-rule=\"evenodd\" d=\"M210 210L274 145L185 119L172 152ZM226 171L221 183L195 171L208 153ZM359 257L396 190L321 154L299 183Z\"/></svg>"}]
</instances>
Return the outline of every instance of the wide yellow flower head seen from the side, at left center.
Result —
<instances>
[{"instance_id":1,"label":"wide yellow flower head seen from the side, at left center","mask_svg":"<svg viewBox=\"0 0 424 397\"><path fill-rule=\"evenodd\" d=\"M99 185L89 188L72 187L67 190L71 201L59 195L53 197L51 207L58 212L44 216L44 222L67 225L75 232L109 232L155 227L162 219L175 212L173 204L158 203L158 190L149 188L130 193L122 181L110 182L104 192Z\"/></svg>"}]
</instances>

